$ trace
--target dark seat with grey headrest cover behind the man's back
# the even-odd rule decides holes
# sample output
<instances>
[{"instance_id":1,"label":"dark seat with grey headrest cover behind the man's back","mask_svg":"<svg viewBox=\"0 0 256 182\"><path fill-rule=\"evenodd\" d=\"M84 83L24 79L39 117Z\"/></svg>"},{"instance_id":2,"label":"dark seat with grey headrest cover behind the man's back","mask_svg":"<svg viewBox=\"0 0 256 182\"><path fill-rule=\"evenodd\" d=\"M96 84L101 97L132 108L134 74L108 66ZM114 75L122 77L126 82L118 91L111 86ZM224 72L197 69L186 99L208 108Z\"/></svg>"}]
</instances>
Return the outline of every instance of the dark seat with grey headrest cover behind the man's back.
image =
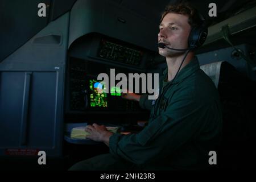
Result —
<instances>
[{"instance_id":1,"label":"dark seat with grey headrest cover behind the man's back","mask_svg":"<svg viewBox=\"0 0 256 182\"><path fill-rule=\"evenodd\" d=\"M212 78L222 106L222 142L217 151L219 169L252 169L255 165L256 84L227 61L202 65Z\"/></svg>"}]
</instances>

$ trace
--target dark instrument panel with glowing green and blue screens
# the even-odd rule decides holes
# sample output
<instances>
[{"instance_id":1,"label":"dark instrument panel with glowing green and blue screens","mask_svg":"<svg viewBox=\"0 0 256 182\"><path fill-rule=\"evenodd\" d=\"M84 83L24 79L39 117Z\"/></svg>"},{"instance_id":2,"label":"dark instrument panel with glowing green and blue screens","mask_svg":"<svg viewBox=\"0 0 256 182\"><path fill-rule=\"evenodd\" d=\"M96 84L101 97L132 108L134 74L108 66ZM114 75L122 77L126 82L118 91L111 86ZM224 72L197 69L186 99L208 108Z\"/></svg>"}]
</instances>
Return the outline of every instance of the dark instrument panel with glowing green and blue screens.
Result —
<instances>
[{"instance_id":1,"label":"dark instrument panel with glowing green and blue screens","mask_svg":"<svg viewBox=\"0 0 256 182\"><path fill-rule=\"evenodd\" d=\"M138 102L121 97L121 88L112 86L106 93L105 85L97 80L97 75L102 72L109 74L109 71L108 65L71 57L67 84L68 111L142 111ZM121 72L119 68L116 71Z\"/></svg>"}]
</instances>

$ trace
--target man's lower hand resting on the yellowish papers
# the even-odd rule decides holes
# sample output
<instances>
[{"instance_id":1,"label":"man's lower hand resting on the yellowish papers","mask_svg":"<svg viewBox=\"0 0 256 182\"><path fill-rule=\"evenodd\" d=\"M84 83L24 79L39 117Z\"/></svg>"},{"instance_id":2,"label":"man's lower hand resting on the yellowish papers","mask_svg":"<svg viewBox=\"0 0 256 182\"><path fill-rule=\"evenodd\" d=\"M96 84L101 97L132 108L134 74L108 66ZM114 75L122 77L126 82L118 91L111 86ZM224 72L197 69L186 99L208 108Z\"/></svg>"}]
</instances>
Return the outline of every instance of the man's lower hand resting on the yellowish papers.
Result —
<instances>
[{"instance_id":1,"label":"man's lower hand resting on the yellowish papers","mask_svg":"<svg viewBox=\"0 0 256 182\"><path fill-rule=\"evenodd\" d=\"M97 125L96 123L93 123L93 125L87 125L85 131L90 133L86 138L92 139L96 142L104 142L109 146L109 138L113 133L108 131L104 125Z\"/></svg>"}]
</instances>

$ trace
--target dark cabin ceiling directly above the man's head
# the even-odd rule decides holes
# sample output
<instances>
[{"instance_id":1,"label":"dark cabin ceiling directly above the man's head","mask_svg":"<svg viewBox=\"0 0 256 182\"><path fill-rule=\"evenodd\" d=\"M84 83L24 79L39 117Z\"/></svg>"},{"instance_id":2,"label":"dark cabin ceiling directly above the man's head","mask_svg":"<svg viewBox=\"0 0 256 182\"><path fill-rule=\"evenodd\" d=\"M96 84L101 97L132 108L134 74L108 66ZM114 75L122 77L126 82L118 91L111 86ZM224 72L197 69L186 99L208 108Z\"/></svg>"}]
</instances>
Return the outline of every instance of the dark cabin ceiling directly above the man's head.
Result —
<instances>
[{"instance_id":1,"label":"dark cabin ceiling directly above the man's head","mask_svg":"<svg viewBox=\"0 0 256 182\"><path fill-rule=\"evenodd\" d=\"M120 5L127 7L127 9L133 10L135 13L144 16L145 18L149 18L159 23L160 15L162 14L164 7L171 3L177 2L189 2L191 5L196 7L197 10L204 16L206 19L212 19L212 23L221 22L224 19L229 18L237 13L240 13L246 9L250 9L251 7L256 5L256 1L253 0L204 0L204 1L196 1L196 0L187 0L187 1L179 1L179 0L111 0L114 2L118 2ZM217 17L209 18L209 3L216 3L217 5Z\"/></svg>"}]
</instances>

